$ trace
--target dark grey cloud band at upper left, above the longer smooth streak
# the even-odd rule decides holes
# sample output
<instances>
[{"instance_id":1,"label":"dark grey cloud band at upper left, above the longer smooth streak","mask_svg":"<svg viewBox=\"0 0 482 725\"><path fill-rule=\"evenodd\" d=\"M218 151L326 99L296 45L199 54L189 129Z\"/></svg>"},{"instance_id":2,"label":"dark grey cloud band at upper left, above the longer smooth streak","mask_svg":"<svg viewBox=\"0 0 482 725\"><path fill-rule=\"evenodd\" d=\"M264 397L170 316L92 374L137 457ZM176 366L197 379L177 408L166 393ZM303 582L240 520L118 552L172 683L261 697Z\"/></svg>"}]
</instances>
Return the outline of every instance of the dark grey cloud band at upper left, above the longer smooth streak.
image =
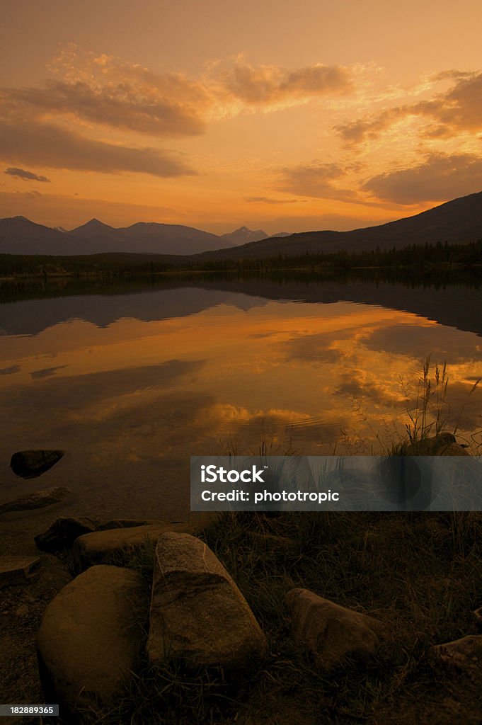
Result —
<instances>
[{"instance_id":1,"label":"dark grey cloud band at upper left, above the longer smooth streak","mask_svg":"<svg viewBox=\"0 0 482 725\"><path fill-rule=\"evenodd\" d=\"M191 104L167 99L155 86L138 88L120 80L100 87L51 80L43 88L6 88L3 96L4 102L22 112L75 115L153 136L192 136L205 128Z\"/></svg>"}]
</instances>

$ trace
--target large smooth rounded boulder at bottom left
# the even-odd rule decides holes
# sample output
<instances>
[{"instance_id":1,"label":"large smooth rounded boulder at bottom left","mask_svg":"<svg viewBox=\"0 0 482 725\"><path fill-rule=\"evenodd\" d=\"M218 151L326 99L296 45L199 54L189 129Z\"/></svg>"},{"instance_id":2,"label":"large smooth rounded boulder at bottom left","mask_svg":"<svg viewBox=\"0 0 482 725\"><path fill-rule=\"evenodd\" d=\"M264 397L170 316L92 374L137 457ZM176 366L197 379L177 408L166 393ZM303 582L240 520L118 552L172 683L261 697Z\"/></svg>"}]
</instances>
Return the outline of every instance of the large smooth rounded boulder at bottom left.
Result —
<instances>
[{"instance_id":1,"label":"large smooth rounded boulder at bottom left","mask_svg":"<svg viewBox=\"0 0 482 725\"><path fill-rule=\"evenodd\" d=\"M71 712L114 704L136 670L147 608L141 575L130 569L94 566L67 584L37 636L46 701Z\"/></svg>"}]
</instances>

